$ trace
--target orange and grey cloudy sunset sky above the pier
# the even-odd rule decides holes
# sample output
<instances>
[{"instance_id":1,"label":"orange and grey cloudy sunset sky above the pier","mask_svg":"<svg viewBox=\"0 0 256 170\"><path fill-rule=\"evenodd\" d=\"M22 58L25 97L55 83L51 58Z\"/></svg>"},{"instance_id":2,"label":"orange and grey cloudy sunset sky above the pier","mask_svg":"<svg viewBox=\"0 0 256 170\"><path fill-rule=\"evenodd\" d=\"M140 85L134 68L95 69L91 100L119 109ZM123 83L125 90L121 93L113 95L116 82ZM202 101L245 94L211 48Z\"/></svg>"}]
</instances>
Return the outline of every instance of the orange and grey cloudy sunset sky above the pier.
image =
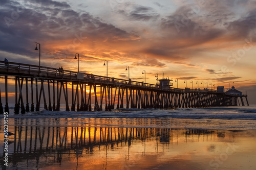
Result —
<instances>
[{"instance_id":1,"label":"orange and grey cloudy sunset sky above the pier","mask_svg":"<svg viewBox=\"0 0 256 170\"><path fill-rule=\"evenodd\" d=\"M151 0L17 0L0 2L0 56L11 62L156 84L168 76L234 84L256 103L256 2ZM173 81L177 87L177 82ZM212 86L214 89L214 86Z\"/></svg>"}]
</instances>

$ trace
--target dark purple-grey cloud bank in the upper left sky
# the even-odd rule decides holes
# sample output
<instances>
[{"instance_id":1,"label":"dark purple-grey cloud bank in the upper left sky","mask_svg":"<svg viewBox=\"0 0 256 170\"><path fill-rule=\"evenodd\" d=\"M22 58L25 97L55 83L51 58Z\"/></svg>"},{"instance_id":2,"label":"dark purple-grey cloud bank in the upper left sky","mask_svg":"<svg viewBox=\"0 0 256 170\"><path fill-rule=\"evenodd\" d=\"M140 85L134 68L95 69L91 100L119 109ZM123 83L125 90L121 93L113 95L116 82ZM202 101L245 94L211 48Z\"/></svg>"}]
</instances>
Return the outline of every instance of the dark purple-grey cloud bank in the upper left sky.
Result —
<instances>
[{"instance_id":1,"label":"dark purple-grey cloud bank in the upper left sky","mask_svg":"<svg viewBox=\"0 0 256 170\"><path fill-rule=\"evenodd\" d=\"M100 41L130 40L136 35L127 33L86 12L76 12L67 3L54 1L29 1L30 4L20 4L6 1L0 7L0 50L20 55L34 55L34 42L44 42L71 39L75 34L83 33L87 37ZM19 7L19 8L18 8ZM22 10L20 7L23 7ZM12 11L17 12L14 17ZM67 44L68 45L68 44ZM42 50L45 55L49 52ZM51 52L50 52L51 53ZM49 54L50 54L49 53ZM18 62L18 61L17 61Z\"/></svg>"}]
</instances>

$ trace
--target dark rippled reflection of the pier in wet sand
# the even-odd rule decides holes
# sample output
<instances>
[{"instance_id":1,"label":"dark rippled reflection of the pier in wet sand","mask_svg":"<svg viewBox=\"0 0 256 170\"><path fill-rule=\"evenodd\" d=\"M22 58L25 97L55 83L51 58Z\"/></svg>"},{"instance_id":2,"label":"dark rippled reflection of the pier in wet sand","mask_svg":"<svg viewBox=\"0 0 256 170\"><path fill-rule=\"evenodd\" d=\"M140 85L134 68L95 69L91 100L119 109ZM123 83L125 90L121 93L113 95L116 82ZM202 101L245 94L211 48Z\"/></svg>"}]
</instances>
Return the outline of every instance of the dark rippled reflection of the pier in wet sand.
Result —
<instances>
[{"instance_id":1,"label":"dark rippled reflection of the pier in wet sand","mask_svg":"<svg viewBox=\"0 0 256 170\"><path fill-rule=\"evenodd\" d=\"M91 154L105 152L105 157L114 150L123 151L133 145L154 142L160 145L178 145L187 142L211 141L222 138L232 142L231 134L215 130L184 130L157 128L111 128L111 127L42 127L14 126L14 142L9 145L9 163L20 167L46 167L70 158L89 158ZM10 141L12 138L9 139ZM106 158L105 158L106 159ZM105 162L106 163L106 162ZM26 164L26 165L24 165ZM106 166L106 165L104 165ZM3 166L2 166L3 167Z\"/></svg>"}]
</instances>

